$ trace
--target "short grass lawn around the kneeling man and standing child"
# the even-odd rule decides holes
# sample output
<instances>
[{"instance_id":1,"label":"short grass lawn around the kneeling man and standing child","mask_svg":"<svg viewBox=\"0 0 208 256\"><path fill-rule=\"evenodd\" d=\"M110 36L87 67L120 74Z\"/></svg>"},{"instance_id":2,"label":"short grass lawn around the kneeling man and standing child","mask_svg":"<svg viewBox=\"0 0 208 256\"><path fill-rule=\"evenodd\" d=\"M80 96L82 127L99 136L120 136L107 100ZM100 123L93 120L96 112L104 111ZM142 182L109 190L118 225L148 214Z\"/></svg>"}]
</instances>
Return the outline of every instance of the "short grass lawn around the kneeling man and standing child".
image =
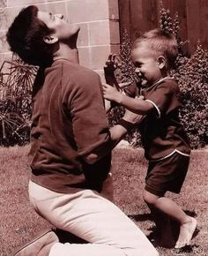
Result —
<instances>
[{"instance_id":1,"label":"short grass lawn around the kneeling man and standing child","mask_svg":"<svg viewBox=\"0 0 208 256\"><path fill-rule=\"evenodd\" d=\"M27 151L28 147L0 148L0 256L10 256L17 246L28 242L40 230L50 227L48 222L35 214L28 202L30 172L26 163ZM192 152L181 195L168 194L189 215L197 218L196 236L191 245L183 250L159 247L162 256L208 255L207 156L207 151ZM114 150L115 203L144 231L154 227L142 200L146 164L141 149Z\"/></svg>"}]
</instances>

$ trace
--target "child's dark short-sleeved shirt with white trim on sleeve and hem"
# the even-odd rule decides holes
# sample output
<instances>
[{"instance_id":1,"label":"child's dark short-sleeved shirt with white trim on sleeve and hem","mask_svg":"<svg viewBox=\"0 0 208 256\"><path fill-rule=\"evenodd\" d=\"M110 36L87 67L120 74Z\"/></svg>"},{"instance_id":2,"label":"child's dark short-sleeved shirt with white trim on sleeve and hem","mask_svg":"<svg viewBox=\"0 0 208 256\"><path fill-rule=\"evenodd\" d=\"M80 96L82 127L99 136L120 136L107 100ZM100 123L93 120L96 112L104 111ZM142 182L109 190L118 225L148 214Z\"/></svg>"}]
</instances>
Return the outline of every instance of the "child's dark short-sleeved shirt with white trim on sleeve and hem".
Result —
<instances>
[{"instance_id":1,"label":"child's dark short-sleeved shirt with white trim on sleeve and hem","mask_svg":"<svg viewBox=\"0 0 208 256\"><path fill-rule=\"evenodd\" d=\"M140 124L145 157L157 160L173 153L189 154L189 142L179 119L179 87L175 79L162 79L140 94L151 102L153 110Z\"/></svg>"}]
</instances>

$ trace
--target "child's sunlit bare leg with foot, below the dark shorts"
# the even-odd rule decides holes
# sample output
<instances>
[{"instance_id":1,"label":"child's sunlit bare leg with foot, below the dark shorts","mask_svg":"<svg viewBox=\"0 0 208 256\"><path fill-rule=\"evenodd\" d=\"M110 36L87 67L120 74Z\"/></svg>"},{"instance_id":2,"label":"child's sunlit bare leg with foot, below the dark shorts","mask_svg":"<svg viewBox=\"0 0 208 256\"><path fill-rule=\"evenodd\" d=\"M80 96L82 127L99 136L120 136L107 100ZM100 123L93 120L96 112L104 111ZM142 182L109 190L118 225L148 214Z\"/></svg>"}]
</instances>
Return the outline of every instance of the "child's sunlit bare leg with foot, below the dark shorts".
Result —
<instances>
[{"instance_id":1,"label":"child's sunlit bare leg with foot, below the dark shorts","mask_svg":"<svg viewBox=\"0 0 208 256\"><path fill-rule=\"evenodd\" d=\"M149 206L160 210L163 214L168 215L180 223L180 234L175 248L189 245L189 241L197 227L197 220L186 215L182 211L182 207L179 207L173 200L167 199L164 196L159 197L151 192L145 191L144 200Z\"/></svg>"}]
</instances>

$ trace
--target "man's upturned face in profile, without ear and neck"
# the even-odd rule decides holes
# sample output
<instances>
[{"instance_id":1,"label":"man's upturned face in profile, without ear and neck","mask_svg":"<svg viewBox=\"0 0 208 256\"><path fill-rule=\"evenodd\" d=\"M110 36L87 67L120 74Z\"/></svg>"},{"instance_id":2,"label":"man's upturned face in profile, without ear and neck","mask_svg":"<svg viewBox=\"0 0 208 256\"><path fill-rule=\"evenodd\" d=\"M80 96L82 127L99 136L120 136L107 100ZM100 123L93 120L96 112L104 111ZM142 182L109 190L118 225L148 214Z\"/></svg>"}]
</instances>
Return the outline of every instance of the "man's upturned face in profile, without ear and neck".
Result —
<instances>
[{"instance_id":1,"label":"man's upturned face in profile, without ear and neck","mask_svg":"<svg viewBox=\"0 0 208 256\"><path fill-rule=\"evenodd\" d=\"M63 19L63 14L53 14L47 11L38 11L38 19L41 19L49 29L53 30L53 35L59 41L68 40L72 35L78 34L80 27L76 24L68 23Z\"/></svg>"}]
</instances>

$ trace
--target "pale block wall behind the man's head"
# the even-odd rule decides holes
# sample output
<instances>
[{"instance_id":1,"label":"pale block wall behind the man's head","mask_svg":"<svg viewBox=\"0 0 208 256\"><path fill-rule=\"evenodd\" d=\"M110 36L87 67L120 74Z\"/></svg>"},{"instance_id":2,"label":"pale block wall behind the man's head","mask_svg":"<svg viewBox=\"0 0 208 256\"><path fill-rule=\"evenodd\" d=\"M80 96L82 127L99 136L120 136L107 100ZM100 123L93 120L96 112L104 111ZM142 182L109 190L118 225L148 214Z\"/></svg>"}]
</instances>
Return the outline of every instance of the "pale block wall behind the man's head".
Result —
<instances>
[{"instance_id":1,"label":"pale block wall behind the man's head","mask_svg":"<svg viewBox=\"0 0 208 256\"><path fill-rule=\"evenodd\" d=\"M63 13L78 23L80 64L100 73L110 52L119 49L118 0L0 0L0 64L11 58L5 40L7 28L26 5L35 4L41 11Z\"/></svg>"}]
</instances>

